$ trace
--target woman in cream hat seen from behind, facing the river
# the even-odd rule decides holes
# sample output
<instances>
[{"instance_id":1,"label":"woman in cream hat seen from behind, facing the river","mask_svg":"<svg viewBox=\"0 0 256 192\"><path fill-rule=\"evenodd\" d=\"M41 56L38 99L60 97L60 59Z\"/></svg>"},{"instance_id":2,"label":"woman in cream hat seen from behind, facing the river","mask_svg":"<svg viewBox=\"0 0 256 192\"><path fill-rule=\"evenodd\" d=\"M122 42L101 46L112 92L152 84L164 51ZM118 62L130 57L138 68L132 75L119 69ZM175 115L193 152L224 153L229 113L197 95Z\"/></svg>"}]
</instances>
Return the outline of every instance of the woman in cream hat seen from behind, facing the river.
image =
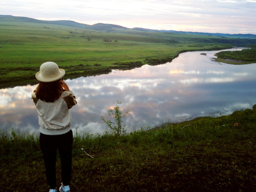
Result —
<instances>
[{"instance_id":1,"label":"woman in cream hat seen from behind, facing the river","mask_svg":"<svg viewBox=\"0 0 256 192\"><path fill-rule=\"evenodd\" d=\"M65 70L54 62L45 62L36 73L39 84L32 93L38 112L40 147L44 156L47 183L50 192L57 191L55 164L57 149L61 160L61 192L70 191L72 143L71 114L69 109L77 101L73 91L61 80Z\"/></svg>"}]
</instances>

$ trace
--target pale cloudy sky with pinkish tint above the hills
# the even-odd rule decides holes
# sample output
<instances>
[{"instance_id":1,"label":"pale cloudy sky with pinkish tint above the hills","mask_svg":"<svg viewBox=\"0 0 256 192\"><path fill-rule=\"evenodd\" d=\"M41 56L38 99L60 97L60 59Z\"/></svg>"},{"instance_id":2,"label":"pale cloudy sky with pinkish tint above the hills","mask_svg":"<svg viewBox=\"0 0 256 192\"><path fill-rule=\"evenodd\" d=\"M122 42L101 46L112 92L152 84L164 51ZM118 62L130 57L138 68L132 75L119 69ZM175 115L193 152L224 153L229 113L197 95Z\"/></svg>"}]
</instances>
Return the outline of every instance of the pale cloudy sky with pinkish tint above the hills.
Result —
<instances>
[{"instance_id":1,"label":"pale cloudy sky with pinkish tint above the hills","mask_svg":"<svg viewBox=\"0 0 256 192\"><path fill-rule=\"evenodd\" d=\"M87 25L256 34L256 0L0 0L0 14Z\"/></svg>"}]
</instances>

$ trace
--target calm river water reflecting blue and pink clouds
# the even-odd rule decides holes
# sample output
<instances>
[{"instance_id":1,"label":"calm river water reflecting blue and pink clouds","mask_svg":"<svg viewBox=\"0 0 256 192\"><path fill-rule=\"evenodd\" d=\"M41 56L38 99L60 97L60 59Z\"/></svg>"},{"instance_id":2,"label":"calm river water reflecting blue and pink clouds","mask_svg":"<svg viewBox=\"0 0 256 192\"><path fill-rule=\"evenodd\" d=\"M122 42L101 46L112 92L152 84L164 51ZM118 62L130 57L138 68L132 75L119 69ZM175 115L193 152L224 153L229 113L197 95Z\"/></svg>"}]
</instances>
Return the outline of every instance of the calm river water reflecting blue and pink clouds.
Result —
<instances>
[{"instance_id":1,"label":"calm river water reflecting blue and pink clouds","mask_svg":"<svg viewBox=\"0 0 256 192\"><path fill-rule=\"evenodd\" d=\"M72 127L79 132L105 132L108 127L101 116L108 118L108 110L117 100L123 111L130 109L124 118L128 131L252 108L256 103L256 63L236 66L215 62L212 58L217 52L187 52L164 65L67 79L78 101L71 108ZM0 129L38 132L37 111L30 99L35 87L0 90Z\"/></svg>"}]
</instances>

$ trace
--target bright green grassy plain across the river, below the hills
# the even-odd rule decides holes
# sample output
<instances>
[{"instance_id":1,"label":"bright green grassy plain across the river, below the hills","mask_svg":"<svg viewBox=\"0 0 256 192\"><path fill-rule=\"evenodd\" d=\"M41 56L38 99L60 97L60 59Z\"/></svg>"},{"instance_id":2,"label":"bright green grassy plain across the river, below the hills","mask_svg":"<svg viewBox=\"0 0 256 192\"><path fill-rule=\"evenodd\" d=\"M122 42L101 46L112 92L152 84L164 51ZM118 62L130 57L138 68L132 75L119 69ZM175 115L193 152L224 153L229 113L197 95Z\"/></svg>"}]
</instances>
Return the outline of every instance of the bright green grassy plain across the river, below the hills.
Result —
<instances>
[{"instance_id":1,"label":"bright green grassy plain across the river, below the hills","mask_svg":"<svg viewBox=\"0 0 256 192\"><path fill-rule=\"evenodd\" d=\"M203 35L107 33L32 22L0 21L0 27L0 85L36 81L35 73L46 61L58 63L66 77L87 76L164 63L185 51L226 49L232 42Z\"/></svg>"}]
</instances>

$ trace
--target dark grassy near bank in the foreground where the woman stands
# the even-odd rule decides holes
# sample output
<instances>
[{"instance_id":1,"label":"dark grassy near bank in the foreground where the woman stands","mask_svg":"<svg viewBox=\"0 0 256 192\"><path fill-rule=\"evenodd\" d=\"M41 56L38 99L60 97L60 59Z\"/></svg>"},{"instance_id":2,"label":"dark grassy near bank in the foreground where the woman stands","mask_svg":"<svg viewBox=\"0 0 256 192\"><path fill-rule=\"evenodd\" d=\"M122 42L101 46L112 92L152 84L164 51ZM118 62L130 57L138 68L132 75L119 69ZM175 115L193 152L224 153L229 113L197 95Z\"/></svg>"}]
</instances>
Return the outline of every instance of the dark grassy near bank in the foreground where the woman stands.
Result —
<instances>
[{"instance_id":1,"label":"dark grassy near bank in the foreground where the woman stands","mask_svg":"<svg viewBox=\"0 0 256 192\"><path fill-rule=\"evenodd\" d=\"M255 124L253 106L120 137L74 133L71 190L255 191ZM47 191L38 137L1 133L0 148L1 190ZM60 183L59 158L57 170Z\"/></svg>"}]
</instances>

